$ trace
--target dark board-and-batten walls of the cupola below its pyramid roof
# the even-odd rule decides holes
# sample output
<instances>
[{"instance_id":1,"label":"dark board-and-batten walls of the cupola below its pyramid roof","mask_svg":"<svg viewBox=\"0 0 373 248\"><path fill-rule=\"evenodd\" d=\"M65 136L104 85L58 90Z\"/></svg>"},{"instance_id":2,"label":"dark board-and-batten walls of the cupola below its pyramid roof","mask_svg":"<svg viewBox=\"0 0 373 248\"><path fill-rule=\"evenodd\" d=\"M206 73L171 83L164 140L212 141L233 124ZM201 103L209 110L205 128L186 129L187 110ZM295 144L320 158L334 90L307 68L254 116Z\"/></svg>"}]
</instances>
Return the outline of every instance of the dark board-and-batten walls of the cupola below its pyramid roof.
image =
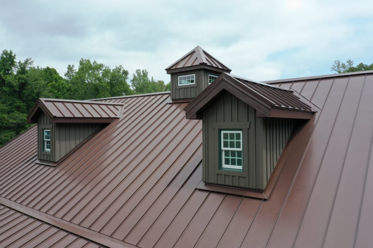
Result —
<instances>
[{"instance_id":1,"label":"dark board-and-batten walls of the cupola below its pyramid roof","mask_svg":"<svg viewBox=\"0 0 373 248\"><path fill-rule=\"evenodd\" d=\"M178 86L178 77L182 75L195 74L195 84ZM220 73L206 69L183 71L171 74L171 99L190 99L195 98L207 86L209 86L209 74L219 76Z\"/></svg>"}]
</instances>

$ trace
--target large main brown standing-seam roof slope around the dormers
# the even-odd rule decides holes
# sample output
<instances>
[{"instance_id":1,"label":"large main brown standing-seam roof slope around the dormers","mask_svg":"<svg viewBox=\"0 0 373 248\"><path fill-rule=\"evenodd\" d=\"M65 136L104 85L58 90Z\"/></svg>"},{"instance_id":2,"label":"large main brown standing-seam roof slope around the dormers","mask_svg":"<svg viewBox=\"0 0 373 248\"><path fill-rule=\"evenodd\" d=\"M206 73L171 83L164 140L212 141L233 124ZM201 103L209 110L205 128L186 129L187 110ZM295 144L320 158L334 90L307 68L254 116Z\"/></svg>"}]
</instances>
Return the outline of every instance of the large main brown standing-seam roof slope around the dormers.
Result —
<instances>
[{"instance_id":1,"label":"large main brown standing-seam roof slope around the dormers","mask_svg":"<svg viewBox=\"0 0 373 248\"><path fill-rule=\"evenodd\" d=\"M371 247L373 73L283 82L321 111L267 200L196 189L201 121L168 93L106 99L120 119L57 167L28 129L0 148L0 197L128 247Z\"/></svg>"}]
</instances>

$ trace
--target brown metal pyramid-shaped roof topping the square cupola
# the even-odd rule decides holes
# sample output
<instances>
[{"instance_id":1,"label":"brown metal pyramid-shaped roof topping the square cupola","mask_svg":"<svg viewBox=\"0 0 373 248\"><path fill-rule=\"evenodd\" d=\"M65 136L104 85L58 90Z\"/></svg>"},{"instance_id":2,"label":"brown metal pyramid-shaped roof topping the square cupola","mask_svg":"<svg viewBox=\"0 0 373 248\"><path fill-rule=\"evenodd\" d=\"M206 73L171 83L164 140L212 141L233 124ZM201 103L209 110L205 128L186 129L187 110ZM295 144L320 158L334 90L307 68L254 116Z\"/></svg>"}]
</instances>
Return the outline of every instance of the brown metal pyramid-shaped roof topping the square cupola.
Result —
<instances>
[{"instance_id":1,"label":"brown metal pyramid-shaped roof topping the square cupola","mask_svg":"<svg viewBox=\"0 0 373 248\"><path fill-rule=\"evenodd\" d=\"M196 46L183 57L172 63L172 65L167 67L165 70L168 74L170 74L178 71L185 71L189 68L210 68L212 70L228 73L232 71L229 69L229 67L214 58L200 46Z\"/></svg>"}]
</instances>

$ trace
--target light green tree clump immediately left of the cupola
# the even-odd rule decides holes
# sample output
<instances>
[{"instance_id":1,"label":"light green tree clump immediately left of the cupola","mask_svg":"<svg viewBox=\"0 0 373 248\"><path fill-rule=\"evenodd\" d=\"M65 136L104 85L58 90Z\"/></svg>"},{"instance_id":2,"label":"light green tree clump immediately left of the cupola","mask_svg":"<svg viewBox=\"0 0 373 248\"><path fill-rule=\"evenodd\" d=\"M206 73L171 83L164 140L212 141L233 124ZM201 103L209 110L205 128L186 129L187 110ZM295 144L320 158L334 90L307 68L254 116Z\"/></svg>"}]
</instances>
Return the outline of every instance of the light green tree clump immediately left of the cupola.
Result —
<instances>
[{"instance_id":1,"label":"light green tree clump immediately left of the cupola","mask_svg":"<svg viewBox=\"0 0 373 248\"><path fill-rule=\"evenodd\" d=\"M167 85L162 80L149 79L147 70L137 69L132 75L131 84L135 94L167 91Z\"/></svg>"}]
</instances>

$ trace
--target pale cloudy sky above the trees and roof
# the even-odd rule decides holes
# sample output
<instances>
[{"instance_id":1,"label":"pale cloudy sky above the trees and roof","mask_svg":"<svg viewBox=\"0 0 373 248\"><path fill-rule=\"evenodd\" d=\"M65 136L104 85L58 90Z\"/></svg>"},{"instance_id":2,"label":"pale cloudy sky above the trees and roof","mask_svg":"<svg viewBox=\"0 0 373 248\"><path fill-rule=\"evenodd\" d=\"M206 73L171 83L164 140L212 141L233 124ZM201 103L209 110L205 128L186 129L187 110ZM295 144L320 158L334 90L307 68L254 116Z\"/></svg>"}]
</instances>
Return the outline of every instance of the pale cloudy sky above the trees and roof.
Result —
<instances>
[{"instance_id":1,"label":"pale cloudy sky above the trees and roof","mask_svg":"<svg viewBox=\"0 0 373 248\"><path fill-rule=\"evenodd\" d=\"M164 68L200 45L253 80L330 74L373 62L373 1L1 1L0 49L53 67L89 58L130 74Z\"/></svg>"}]
</instances>

